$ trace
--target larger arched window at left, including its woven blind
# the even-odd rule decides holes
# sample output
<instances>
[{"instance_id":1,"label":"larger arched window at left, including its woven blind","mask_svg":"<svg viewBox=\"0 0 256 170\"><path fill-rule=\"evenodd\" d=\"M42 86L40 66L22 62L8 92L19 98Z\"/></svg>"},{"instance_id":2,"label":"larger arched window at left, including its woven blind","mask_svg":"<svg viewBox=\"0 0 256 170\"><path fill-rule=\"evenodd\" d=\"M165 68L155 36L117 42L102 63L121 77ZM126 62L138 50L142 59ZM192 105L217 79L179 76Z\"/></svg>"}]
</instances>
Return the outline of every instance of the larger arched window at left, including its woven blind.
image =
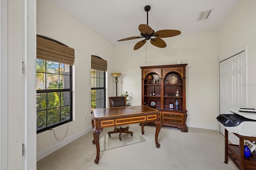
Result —
<instances>
[{"instance_id":1,"label":"larger arched window at left, including its woven blind","mask_svg":"<svg viewBox=\"0 0 256 170\"><path fill-rule=\"evenodd\" d=\"M74 49L36 37L37 133L72 121L72 64Z\"/></svg>"}]
</instances>

